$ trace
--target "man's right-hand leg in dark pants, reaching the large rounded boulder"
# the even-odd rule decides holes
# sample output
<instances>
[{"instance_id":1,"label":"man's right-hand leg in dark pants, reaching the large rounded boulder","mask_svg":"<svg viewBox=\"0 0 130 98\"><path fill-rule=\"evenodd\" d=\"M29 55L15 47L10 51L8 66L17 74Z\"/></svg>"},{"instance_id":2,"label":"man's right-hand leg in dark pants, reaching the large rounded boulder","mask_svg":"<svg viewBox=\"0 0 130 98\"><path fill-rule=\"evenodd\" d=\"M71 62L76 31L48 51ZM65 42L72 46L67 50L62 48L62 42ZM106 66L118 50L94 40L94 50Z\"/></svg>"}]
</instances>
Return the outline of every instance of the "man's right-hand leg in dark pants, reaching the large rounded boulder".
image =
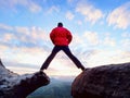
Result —
<instances>
[{"instance_id":1,"label":"man's right-hand leg in dark pants, reaching the large rounded boulder","mask_svg":"<svg viewBox=\"0 0 130 98\"><path fill-rule=\"evenodd\" d=\"M67 46L63 47L62 50L73 60L73 62L76 64L77 68L84 70L84 66L81 64L81 62L70 52L69 48Z\"/></svg>"}]
</instances>

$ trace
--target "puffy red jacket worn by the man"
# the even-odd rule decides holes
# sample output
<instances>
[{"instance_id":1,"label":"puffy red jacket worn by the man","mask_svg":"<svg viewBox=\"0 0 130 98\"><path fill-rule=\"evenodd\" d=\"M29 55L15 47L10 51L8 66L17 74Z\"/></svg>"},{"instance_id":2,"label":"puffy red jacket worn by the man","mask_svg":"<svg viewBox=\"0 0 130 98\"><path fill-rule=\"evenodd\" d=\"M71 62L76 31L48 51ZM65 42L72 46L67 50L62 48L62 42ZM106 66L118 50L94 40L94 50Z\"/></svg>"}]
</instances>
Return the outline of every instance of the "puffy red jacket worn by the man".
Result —
<instances>
[{"instance_id":1,"label":"puffy red jacket worn by the man","mask_svg":"<svg viewBox=\"0 0 130 98\"><path fill-rule=\"evenodd\" d=\"M73 36L68 29L64 27L55 27L52 29L50 38L55 46L68 46Z\"/></svg>"}]
</instances>

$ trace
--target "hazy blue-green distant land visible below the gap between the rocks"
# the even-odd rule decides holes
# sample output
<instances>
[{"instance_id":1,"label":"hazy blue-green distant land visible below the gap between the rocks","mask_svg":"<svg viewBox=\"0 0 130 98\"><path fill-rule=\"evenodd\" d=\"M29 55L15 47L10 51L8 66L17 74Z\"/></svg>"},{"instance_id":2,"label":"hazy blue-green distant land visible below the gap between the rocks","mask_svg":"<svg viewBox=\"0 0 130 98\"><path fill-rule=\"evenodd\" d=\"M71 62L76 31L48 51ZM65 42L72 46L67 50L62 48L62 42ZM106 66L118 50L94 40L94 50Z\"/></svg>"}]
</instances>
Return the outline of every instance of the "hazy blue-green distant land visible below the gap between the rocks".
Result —
<instances>
[{"instance_id":1,"label":"hazy blue-green distant land visible below the gap between the rocks","mask_svg":"<svg viewBox=\"0 0 130 98\"><path fill-rule=\"evenodd\" d=\"M51 83L46 87L40 87L27 98L73 98L70 95L72 82L51 78Z\"/></svg>"}]
</instances>

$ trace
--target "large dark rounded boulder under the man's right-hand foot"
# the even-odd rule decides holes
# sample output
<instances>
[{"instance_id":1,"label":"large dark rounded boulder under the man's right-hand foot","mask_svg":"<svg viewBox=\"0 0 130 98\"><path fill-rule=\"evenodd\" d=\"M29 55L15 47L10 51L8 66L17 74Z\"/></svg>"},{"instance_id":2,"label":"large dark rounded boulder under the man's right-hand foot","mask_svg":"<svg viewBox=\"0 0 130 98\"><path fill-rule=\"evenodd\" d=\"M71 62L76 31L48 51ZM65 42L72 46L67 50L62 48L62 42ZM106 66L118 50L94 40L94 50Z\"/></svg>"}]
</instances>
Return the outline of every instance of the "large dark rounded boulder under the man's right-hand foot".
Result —
<instances>
[{"instance_id":1,"label":"large dark rounded boulder under the man's right-hand foot","mask_svg":"<svg viewBox=\"0 0 130 98\"><path fill-rule=\"evenodd\" d=\"M74 98L130 98L130 63L88 69L72 85Z\"/></svg>"}]
</instances>

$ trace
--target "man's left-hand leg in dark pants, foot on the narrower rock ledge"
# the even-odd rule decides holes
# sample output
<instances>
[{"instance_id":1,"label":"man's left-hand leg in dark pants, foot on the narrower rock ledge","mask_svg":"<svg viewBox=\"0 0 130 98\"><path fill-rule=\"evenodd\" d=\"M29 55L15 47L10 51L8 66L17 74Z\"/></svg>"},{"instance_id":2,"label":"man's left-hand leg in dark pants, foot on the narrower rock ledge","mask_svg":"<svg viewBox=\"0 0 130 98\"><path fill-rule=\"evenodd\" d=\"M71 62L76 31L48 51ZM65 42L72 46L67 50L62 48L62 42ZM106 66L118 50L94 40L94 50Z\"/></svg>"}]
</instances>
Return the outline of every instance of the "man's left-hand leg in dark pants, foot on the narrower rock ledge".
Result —
<instances>
[{"instance_id":1,"label":"man's left-hand leg in dark pants, foot on the narrower rock ledge","mask_svg":"<svg viewBox=\"0 0 130 98\"><path fill-rule=\"evenodd\" d=\"M55 57L55 54L60 51L60 48L57 46L55 46L51 52L51 54L48 57L48 59L46 60L46 62L42 64L40 70L44 70L48 69L50 62L53 60L53 58Z\"/></svg>"}]
</instances>

